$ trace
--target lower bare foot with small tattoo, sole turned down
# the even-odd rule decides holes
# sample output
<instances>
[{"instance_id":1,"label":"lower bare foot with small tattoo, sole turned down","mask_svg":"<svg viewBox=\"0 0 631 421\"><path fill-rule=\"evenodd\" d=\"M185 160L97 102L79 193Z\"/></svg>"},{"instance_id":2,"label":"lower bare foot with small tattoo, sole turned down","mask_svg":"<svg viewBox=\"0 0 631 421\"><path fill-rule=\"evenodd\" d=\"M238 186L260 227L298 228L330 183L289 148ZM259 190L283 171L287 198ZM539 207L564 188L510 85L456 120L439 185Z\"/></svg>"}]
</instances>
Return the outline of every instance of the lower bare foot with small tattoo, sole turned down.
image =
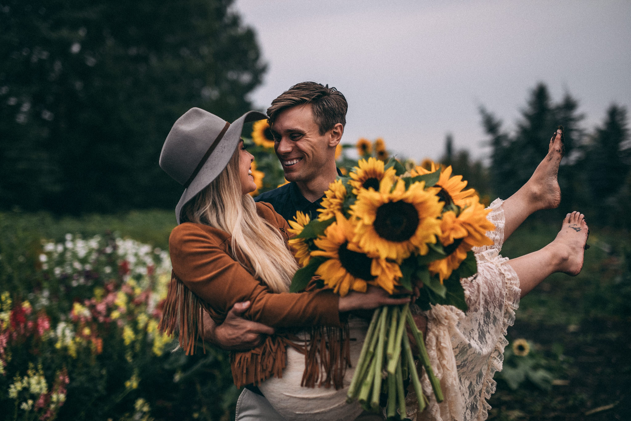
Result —
<instances>
[{"instance_id":1,"label":"lower bare foot with small tattoo, sole turned down","mask_svg":"<svg viewBox=\"0 0 631 421\"><path fill-rule=\"evenodd\" d=\"M580 212L572 212L565 216L557 238L546 247L551 247L559 258L557 272L576 276L583 268L583 253L587 242L589 228L585 216Z\"/></svg>"}]
</instances>

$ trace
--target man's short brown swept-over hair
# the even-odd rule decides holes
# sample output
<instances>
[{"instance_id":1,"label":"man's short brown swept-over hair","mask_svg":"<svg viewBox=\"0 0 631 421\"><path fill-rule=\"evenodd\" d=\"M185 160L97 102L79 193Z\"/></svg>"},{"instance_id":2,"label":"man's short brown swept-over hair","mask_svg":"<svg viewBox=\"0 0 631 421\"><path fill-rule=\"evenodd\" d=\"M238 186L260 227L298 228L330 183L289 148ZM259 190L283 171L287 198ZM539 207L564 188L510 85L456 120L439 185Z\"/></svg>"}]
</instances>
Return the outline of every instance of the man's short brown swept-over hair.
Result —
<instances>
[{"instance_id":1,"label":"man's short brown swept-over hair","mask_svg":"<svg viewBox=\"0 0 631 421\"><path fill-rule=\"evenodd\" d=\"M278 95L268 108L269 125L274 124L281 112L301 104L311 104L320 134L333 129L338 123L346 126L348 103L344 95L336 88L316 82L298 83Z\"/></svg>"}]
</instances>

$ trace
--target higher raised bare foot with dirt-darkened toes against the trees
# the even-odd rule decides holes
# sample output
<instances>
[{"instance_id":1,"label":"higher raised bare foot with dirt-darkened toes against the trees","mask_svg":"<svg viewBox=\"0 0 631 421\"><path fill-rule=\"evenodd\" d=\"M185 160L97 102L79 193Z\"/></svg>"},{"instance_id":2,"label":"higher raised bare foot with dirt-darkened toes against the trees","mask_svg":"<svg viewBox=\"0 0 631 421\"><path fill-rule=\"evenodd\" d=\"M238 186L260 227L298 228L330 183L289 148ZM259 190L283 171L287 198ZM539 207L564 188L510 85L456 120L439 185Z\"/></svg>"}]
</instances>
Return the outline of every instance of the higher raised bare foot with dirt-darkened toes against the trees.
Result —
<instances>
[{"instance_id":1,"label":"higher raised bare foot with dirt-darkened toes against the trees","mask_svg":"<svg viewBox=\"0 0 631 421\"><path fill-rule=\"evenodd\" d=\"M538 210L553 209L561 203L561 189L558 187L558 165L561 163L565 146L561 129L550 139L548 155L534 170L534 174L524 185L529 191L531 201Z\"/></svg>"}]
</instances>

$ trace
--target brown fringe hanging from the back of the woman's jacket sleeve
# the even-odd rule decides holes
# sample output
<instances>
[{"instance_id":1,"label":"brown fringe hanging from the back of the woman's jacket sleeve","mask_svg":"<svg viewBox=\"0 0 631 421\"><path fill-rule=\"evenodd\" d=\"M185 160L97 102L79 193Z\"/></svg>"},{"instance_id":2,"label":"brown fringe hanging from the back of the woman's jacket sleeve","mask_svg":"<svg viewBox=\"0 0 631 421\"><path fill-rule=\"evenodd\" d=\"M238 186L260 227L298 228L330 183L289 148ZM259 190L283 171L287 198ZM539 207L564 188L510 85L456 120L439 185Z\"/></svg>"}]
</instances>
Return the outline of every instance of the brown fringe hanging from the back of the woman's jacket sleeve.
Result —
<instances>
[{"instance_id":1,"label":"brown fringe hanging from the back of the woman's jacket sleeve","mask_svg":"<svg viewBox=\"0 0 631 421\"><path fill-rule=\"evenodd\" d=\"M199 332L204 331L203 311L202 300L175 276L174 271L171 271L171 282L168 285L167 299L158 328L169 336L178 331L178 341L186 355L195 353ZM202 346L206 353L203 338Z\"/></svg>"}]
</instances>

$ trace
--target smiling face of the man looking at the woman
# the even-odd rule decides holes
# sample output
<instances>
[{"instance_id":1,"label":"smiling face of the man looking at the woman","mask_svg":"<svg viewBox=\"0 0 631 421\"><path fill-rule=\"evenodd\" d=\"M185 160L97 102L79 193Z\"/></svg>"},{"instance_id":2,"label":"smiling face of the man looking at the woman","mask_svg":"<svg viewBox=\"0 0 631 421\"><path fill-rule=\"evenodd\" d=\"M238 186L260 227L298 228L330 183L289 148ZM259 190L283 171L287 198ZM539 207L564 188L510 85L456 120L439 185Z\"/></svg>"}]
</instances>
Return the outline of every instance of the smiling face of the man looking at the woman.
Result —
<instances>
[{"instance_id":1,"label":"smiling face of the man looking at the woman","mask_svg":"<svg viewBox=\"0 0 631 421\"><path fill-rule=\"evenodd\" d=\"M274 121L272 134L274 150L287 181L314 179L326 163L335 160L335 146L339 140L333 141L331 131L320 134L311 104L297 105L281 112Z\"/></svg>"}]
</instances>

